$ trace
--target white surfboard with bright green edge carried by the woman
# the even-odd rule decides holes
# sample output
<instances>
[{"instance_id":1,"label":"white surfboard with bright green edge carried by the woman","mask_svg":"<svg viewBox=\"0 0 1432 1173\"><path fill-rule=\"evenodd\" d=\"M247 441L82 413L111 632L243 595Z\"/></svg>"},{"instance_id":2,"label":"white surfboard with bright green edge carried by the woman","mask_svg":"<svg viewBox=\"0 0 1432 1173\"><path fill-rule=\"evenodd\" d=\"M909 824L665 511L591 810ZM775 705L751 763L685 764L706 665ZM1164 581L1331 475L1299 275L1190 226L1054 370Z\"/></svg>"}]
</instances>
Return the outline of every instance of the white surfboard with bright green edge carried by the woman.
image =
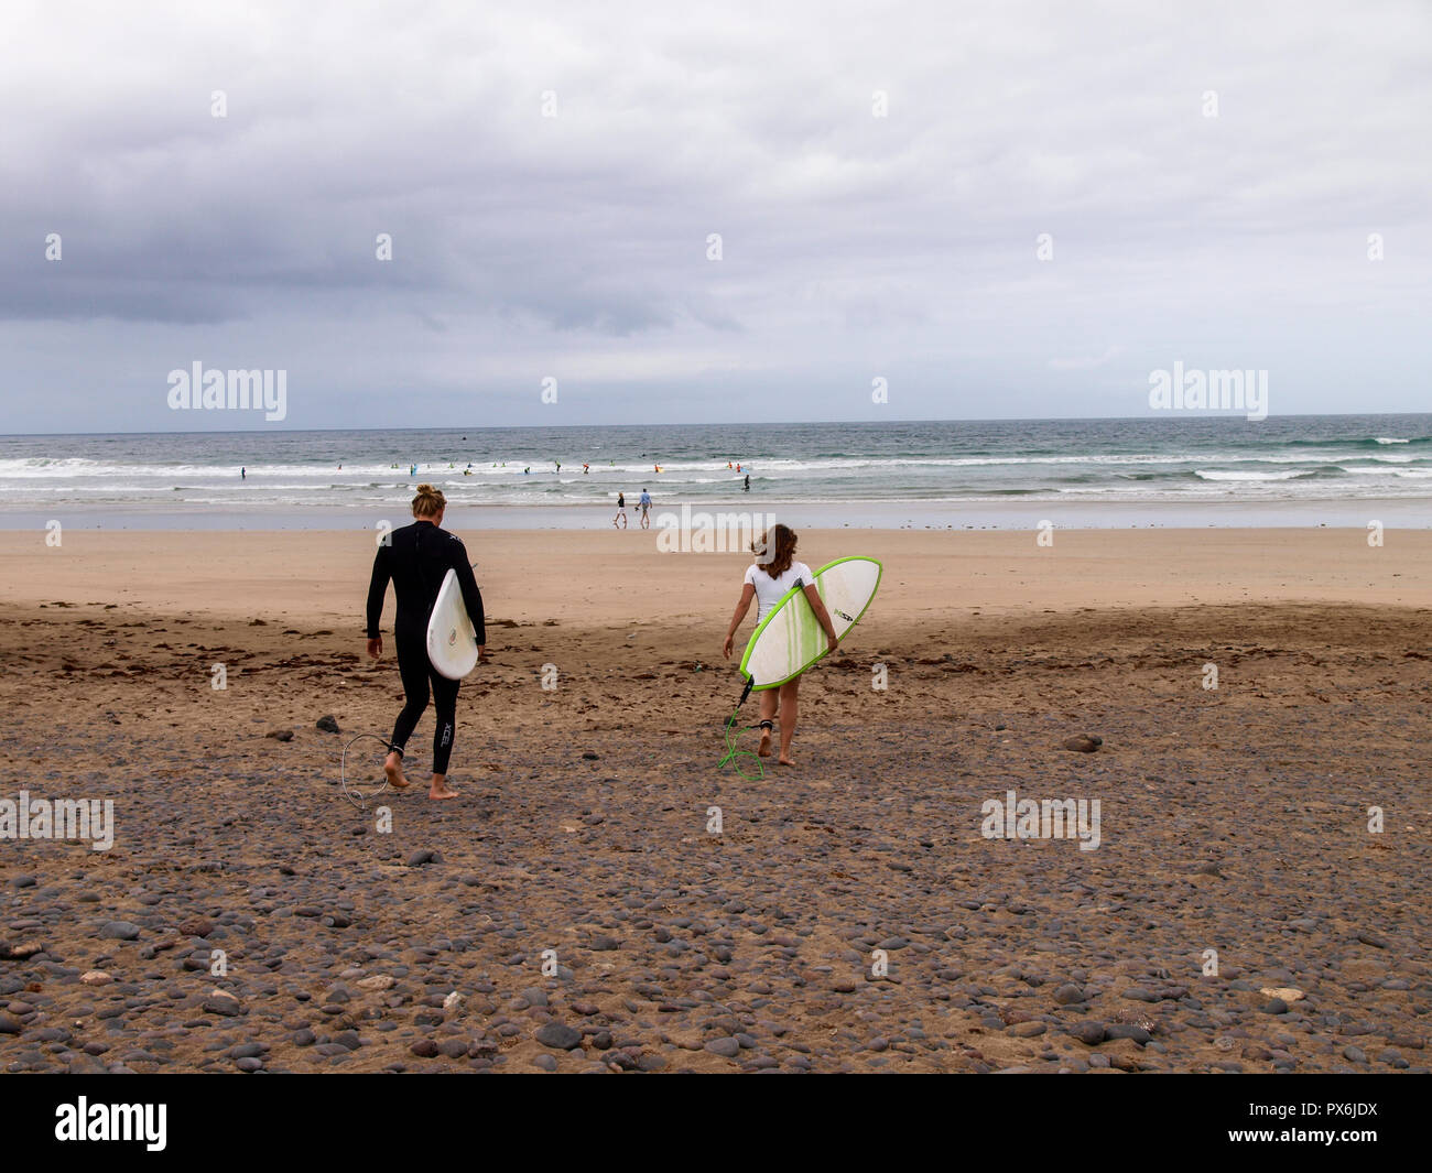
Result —
<instances>
[{"instance_id":1,"label":"white surfboard with bright green edge carried by the woman","mask_svg":"<svg viewBox=\"0 0 1432 1173\"><path fill-rule=\"evenodd\" d=\"M875 597L884 567L875 559L836 559L815 571L815 589L831 613L838 639L853 627ZM746 645L740 670L756 690L773 689L816 663L829 649L805 586L785 593Z\"/></svg>"}]
</instances>

